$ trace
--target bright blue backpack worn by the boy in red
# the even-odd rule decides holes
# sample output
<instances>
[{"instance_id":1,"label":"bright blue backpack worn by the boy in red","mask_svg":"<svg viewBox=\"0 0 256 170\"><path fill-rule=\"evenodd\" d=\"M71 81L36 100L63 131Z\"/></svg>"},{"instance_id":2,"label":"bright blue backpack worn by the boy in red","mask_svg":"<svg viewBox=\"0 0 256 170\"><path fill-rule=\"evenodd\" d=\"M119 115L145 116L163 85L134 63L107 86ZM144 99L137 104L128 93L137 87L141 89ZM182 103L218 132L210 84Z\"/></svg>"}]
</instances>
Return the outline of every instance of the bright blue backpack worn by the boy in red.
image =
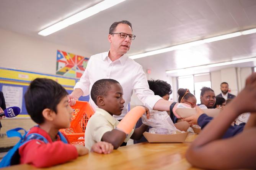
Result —
<instances>
[{"instance_id":1,"label":"bright blue backpack worn by the boy in red","mask_svg":"<svg viewBox=\"0 0 256 170\"><path fill-rule=\"evenodd\" d=\"M10 165L16 165L16 164L20 164L20 155L19 155L19 148L27 143L30 140L41 140L44 143L49 143L49 141L42 135L39 135L38 133L31 133L28 136L26 136L28 134L28 132L26 132L26 130L24 130L25 134L22 136L20 132L18 132L19 130L24 130L23 128L15 128L15 129L11 129L8 130L6 132L8 138L10 137L20 137L20 141L13 146L12 149L10 149L10 151L3 157L2 161L0 162L0 168L3 167L8 167ZM58 135L60 136L60 140L64 143L68 143L66 138L62 135L62 133L58 132Z\"/></svg>"}]
</instances>

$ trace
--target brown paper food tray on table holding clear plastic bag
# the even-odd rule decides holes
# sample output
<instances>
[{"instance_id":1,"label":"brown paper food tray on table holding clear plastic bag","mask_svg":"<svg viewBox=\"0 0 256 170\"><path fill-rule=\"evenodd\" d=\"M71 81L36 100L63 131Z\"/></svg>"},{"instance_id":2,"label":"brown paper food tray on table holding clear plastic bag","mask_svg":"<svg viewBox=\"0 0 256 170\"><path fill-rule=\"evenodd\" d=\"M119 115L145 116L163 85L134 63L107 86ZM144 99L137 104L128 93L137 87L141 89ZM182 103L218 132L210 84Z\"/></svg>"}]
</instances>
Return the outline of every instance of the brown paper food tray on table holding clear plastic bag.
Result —
<instances>
[{"instance_id":1,"label":"brown paper food tray on table holding clear plastic bag","mask_svg":"<svg viewBox=\"0 0 256 170\"><path fill-rule=\"evenodd\" d=\"M149 143L183 143L188 136L188 132L173 135L162 135L144 132L143 135Z\"/></svg>"}]
</instances>

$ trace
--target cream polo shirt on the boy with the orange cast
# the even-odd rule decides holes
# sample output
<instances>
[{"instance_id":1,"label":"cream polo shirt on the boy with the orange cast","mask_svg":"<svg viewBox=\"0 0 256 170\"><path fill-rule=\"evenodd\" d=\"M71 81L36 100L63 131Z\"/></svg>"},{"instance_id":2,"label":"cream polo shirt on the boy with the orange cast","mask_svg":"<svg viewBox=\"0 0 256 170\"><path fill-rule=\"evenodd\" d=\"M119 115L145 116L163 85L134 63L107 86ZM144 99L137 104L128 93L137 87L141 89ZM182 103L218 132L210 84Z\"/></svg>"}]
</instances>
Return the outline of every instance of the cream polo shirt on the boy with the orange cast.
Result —
<instances>
[{"instance_id":1,"label":"cream polo shirt on the boy with the orange cast","mask_svg":"<svg viewBox=\"0 0 256 170\"><path fill-rule=\"evenodd\" d=\"M109 132L117 127L119 121L111 116L107 111L96 108L95 114L89 119L85 129L85 147L91 149L93 144L101 141L104 133ZM124 142L127 142L132 136L132 132L126 137Z\"/></svg>"}]
</instances>

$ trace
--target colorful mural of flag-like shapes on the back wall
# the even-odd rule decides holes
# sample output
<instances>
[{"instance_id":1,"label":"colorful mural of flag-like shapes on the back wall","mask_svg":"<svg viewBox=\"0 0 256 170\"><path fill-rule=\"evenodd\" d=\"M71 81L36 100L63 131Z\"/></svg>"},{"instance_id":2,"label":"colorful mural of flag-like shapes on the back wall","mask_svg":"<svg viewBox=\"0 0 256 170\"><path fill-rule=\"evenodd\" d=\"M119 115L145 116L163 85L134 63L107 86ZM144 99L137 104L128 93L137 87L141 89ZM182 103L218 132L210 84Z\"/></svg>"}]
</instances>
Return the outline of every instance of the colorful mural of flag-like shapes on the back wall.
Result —
<instances>
[{"instance_id":1,"label":"colorful mural of flag-like shapes on the back wall","mask_svg":"<svg viewBox=\"0 0 256 170\"><path fill-rule=\"evenodd\" d=\"M57 50L56 74L80 78L89 58Z\"/></svg>"}]
</instances>

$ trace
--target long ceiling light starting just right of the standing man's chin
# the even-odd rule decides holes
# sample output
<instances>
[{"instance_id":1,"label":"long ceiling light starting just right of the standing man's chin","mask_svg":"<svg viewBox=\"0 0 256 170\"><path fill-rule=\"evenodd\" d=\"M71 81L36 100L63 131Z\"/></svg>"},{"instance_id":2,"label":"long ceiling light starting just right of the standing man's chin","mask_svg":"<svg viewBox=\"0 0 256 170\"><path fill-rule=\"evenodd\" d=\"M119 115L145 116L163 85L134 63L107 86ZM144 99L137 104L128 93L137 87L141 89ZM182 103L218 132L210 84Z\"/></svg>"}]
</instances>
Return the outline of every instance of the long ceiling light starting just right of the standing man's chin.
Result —
<instances>
[{"instance_id":1,"label":"long ceiling light starting just right of the standing man's chin","mask_svg":"<svg viewBox=\"0 0 256 170\"><path fill-rule=\"evenodd\" d=\"M137 58L142 58L142 57L146 57L146 56L157 55L160 53L166 53L166 52L173 51L173 50L180 50L180 49L184 49L184 48L188 48L188 47L192 47L192 46L196 46L196 45L200 45L200 44L204 44L204 43L215 42L215 41L224 40L224 39L228 39L228 38L238 37L240 35L247 35L247 34L253 34L253 33L256 33L256 28L239 31L239 32L234 32L231 34L220 35L220 36L211 37L211 38L205 38L203 40L193 41L193 42L189 42L189 43L175 45L172 47L162 48L159 50L149 51L146 53L132 55L132 56L129 56L129 58L137 59Z\"/></svg>"}]
</instances>

